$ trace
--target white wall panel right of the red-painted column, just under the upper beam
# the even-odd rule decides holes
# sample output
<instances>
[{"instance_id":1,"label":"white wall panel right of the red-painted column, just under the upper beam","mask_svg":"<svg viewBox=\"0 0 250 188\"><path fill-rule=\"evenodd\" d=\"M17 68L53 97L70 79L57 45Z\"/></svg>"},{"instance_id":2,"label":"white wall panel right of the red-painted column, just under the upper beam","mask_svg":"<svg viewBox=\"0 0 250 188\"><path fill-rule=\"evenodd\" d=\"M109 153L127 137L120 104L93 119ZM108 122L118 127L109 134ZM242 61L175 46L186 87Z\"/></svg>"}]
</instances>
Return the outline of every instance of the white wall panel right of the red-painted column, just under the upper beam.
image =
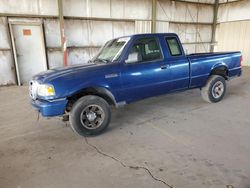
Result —
<instances>
[{"instance_id":1,"label":"white wall panel right of the red-painted column, just under the upper beam","mask_svg":"<svg viewBox=\"0 0 250 188\"><path fill-rule=\"evenodd\" d=\"M133 34L134 22L66 20L67 46L102 46L114 37Z\"/></svg>"}]
</instances>

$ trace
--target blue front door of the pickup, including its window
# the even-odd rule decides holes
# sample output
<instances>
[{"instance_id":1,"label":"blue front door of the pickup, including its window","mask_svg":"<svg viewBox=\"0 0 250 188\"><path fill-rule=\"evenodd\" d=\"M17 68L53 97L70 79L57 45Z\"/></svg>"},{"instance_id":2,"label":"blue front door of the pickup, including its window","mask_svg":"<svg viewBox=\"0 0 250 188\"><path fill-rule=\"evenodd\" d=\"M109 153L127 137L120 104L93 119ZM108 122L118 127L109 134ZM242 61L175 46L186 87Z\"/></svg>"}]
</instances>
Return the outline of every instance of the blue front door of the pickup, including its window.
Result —
<instances>
[{"instance_id":1,"label":"blue front door of the pickup, including its window","mask_svg":"<svg viewBox=\"0 0 250 188\"><path fill-rule=\"evenodd\" d=\"M170 70L158 37L135 39L125 59L121 75L127 102L170 91Z\"/></svg>"}]
</instances>

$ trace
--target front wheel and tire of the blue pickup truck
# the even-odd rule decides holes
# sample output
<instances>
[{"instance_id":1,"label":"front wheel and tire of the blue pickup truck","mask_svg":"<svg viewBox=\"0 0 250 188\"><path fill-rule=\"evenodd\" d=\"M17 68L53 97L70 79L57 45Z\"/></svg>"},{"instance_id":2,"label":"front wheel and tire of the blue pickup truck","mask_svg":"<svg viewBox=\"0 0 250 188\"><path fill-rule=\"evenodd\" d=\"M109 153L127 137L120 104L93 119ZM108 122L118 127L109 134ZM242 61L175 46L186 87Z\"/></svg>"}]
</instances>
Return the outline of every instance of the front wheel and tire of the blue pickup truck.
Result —
<instances>
[{"instance_id":1,"label":"front wheel and tire of the blue pickup truck","mask_svg":"<svg viewBox=\"0 0 250 188\"><path fill-rule=\"evenodd\" d=\"M109 104L95 95L78 99L69 115L71 128L81 136L101 134L108 127L110 119Z\"/></svg>"}]
</instances>

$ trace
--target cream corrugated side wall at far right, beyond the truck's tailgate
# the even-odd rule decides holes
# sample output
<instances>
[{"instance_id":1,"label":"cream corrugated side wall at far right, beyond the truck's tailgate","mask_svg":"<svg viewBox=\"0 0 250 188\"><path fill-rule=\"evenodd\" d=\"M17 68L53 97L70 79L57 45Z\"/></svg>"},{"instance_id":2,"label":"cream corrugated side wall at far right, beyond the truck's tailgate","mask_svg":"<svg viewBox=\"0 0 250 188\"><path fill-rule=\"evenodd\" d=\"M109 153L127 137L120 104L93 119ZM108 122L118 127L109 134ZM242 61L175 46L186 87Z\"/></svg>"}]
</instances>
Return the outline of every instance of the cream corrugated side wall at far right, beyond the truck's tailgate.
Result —
<instances>
[{"instance_id":1,"label":"cream corrugated side wall at far right, beyond the truck's tailgate","mask_svg":"<svg viewBox=\"0 0 250 188\"><path fill-rule=\"evenodd\" d=\"M220 5L216 51L242 51L243 65L250 66L250 1Z\"/></svg>"}]
</instances>

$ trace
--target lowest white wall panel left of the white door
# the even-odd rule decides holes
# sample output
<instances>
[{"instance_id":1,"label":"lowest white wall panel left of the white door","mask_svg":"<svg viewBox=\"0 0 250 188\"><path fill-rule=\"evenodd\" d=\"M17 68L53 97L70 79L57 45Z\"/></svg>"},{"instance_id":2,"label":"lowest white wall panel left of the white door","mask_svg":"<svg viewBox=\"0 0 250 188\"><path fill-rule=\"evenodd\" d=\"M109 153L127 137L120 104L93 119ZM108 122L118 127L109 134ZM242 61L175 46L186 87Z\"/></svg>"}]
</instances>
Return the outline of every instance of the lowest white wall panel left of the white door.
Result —
<instances>
[{"instance_id":1,"label":"lowest white wall panel left of the white door","mask_svg":"<svg viewBox=\"0 0 250 188\"><path fill-rule=\"evenodd\" d=\"M16 84L11 51L0 51L0 85Z\"/></svg>"}]
</instances>

